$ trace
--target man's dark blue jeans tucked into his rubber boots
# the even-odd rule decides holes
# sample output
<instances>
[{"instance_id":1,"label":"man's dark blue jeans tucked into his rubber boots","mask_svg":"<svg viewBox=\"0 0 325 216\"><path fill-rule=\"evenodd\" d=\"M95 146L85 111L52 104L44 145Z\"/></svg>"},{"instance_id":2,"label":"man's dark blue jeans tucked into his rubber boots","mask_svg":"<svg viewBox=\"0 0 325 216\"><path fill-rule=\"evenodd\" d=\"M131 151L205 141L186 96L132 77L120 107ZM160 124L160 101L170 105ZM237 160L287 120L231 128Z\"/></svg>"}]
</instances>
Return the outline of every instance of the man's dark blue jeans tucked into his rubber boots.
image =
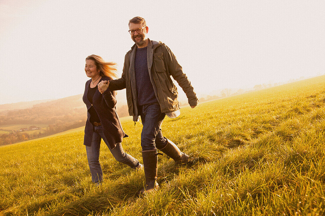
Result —
<instances>
[{"instance_id":1,"label":"man's dark blue jeans tucked into his rubber boots","mask_svg":"<svg viewBox=\"0 0 325 216\"><path fill-rule=\"evenodd\" d=\"M167 144L167 139L162 136L162 121L165 118L158 103L139 106L142 121L141 147L142 151L162 149Z\"/></svg>"}]
</instances>

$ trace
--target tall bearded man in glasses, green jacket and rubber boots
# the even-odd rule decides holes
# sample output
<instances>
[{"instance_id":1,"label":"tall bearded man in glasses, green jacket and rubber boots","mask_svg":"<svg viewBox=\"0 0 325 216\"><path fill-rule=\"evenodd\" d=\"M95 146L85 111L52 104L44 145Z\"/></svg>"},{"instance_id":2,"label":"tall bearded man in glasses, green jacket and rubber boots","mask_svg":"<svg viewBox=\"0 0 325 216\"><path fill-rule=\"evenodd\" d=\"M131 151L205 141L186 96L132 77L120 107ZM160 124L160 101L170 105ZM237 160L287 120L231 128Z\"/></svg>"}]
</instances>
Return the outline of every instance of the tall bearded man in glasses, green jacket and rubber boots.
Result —
<instances>
[{"instance_id":1,"label":"tall bearded man in glasses, green jacket and rubber boots","mask_svg":"<svg viewBox=\"0 0 325 216\"><path fill-rule=\"evenodd\" d=\"M126 88L129 114L133 115L135 122L141 116L141 147L146 177L145 187L140 191L142 194L159 187L156 182L157 149L176 163L188 161L187 154L162 136L161 125L165 115L175 118L180 114L178 92L171 76L186 93L192 108L198 104L198 98L172 51L164 43L147 37L149 28L146 21L141 17L132 18L129 29L135 44L125 55L122 78L102 81L100 88L106 82L110 90Z\"/></svg>"}]
</instances>

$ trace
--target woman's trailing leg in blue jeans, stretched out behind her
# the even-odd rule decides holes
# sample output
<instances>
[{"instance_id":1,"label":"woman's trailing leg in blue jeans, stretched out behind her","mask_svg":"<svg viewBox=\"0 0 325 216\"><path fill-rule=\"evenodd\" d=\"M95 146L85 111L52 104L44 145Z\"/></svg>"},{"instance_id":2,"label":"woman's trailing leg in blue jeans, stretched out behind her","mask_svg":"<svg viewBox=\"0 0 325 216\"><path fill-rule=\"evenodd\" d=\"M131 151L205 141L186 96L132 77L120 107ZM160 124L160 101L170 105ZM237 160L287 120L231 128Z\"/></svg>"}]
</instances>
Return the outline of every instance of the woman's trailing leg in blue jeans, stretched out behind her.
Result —
<instances>
[{"instance_id":1,"label":"woman's trailing leg in blue jeans, stretched out behind her","mask_svg":"<svg viewBox=\"0 0 325 216\"><path fill-rule=\"evenodd\" d=\"M101 136L101 138L106 143L107 147L109 148L110 152L112 153L113 157L121 163L124 163L132 168L136 168L139 166L140 162L136 160L131 155L124 152L121 143L117 143L116 147L114 149L110 148L110 145L108 144L108 141L103 133L103 128L101 126L96 127L97 133Z\"/></svg>"}]
</instances>

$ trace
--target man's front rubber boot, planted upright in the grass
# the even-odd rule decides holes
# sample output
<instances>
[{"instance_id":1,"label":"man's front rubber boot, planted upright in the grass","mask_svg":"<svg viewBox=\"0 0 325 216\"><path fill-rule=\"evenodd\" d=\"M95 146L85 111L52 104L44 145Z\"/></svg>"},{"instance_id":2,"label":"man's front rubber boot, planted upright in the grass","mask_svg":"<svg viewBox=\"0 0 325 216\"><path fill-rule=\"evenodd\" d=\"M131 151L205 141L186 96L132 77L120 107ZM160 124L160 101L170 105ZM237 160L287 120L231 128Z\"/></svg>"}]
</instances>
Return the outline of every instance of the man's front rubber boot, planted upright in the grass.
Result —
<instances>
[{"instance_id":1,"label":"man's front rubber boot, planted upright in the grass","mask_svg":"<svg viewBox=\"0 0 325 216\"><path fill-rule=\"evenodd\" d=\"M159 185L157 180L157 149L151 151L142 151L142 159L144 166L144 175L146 177L146 184L144 188L139 191L139 195L143 195L144 192L150 192L154 189L158 189Z\"/></svg>"}]
</instances>

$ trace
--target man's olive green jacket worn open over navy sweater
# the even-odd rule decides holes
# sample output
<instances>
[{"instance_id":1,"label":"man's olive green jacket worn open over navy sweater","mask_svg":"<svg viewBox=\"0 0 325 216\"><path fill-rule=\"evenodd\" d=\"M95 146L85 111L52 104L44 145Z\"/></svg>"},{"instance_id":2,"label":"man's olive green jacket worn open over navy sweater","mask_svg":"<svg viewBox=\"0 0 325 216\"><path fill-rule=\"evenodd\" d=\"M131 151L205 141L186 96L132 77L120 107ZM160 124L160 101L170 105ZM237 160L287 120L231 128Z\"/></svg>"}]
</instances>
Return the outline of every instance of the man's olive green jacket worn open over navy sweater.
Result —
<instances>
[{"instance_id":1,"label":"man's olive green jacket worn open over navy sweater","mask_svg":"<svg viewBox=\"0 0 325 216\"><path fill-rule=\"evenodd\" d=\"M136 44L134 44L124 58L122 78L110 80L110 90L121 90L126 88L126 100L129 114L133 115L133 121L138 121L138 106L136 92L136 75L134 61L136 56ZM178 92L170 76L185 92L190 106L198 104L198 98L178 64L175 55L162 42L150 41L147 48L148 72L156 98L160 104L161 112L169 117L179 115Z\"/></svg>"}]
</instances>

